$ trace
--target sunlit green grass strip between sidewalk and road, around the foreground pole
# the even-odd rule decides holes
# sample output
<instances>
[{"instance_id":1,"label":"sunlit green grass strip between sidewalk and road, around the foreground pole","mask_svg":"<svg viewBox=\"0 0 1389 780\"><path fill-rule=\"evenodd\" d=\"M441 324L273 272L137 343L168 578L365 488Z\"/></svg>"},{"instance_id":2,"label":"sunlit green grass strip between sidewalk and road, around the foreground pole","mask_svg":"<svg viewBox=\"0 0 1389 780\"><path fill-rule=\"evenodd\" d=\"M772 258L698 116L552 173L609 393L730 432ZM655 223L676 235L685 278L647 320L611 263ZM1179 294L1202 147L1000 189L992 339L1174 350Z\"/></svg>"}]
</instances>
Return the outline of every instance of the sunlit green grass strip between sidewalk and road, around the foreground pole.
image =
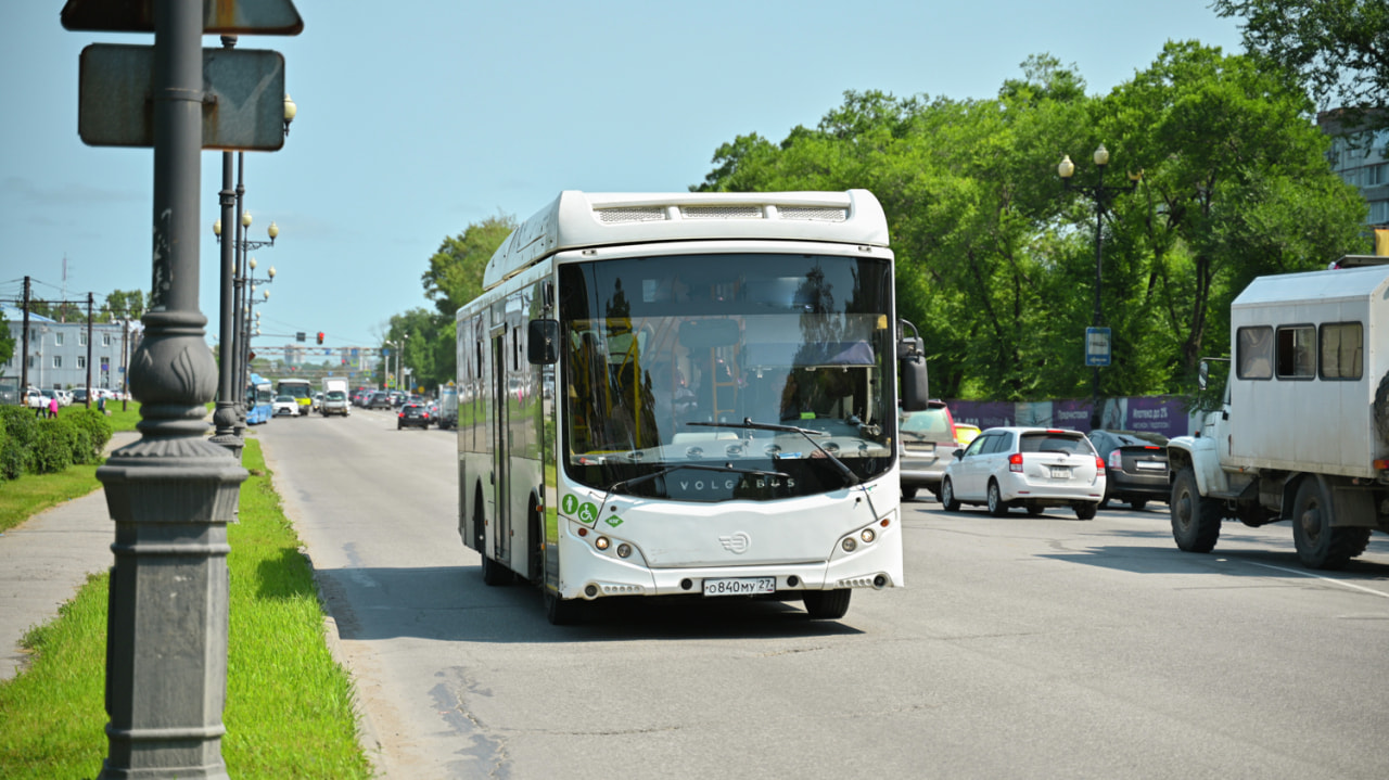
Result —
<instances>
[{"instance_id":1,"label":"sunlit green grass strip between sidewalk and road, around the foreground pole","mask_svg":"<svg viewBox=\"0 0 1389 780\"><path fill-rule=\"evenodd\" d=\"M251 477L242 484L240 522L228 527L228 773L371 777L357 743L351 681L324 641L313 573L254 439L246 441L243 465ZM0 683L0 777L96 777L101 770L107 587L108 575L92 575L56 620L25 637L31 666Z\"/></svg>"}]
</instances>

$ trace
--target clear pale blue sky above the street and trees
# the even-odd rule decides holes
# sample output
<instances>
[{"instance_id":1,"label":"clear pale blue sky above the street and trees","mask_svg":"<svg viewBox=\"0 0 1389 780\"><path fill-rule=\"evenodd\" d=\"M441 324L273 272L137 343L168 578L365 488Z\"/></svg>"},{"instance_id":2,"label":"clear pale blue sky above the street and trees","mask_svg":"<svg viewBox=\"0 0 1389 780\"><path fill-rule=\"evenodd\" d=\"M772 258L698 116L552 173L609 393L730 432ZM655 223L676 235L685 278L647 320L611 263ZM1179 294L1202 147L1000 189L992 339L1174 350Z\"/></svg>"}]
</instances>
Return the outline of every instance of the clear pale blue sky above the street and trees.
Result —
<instances>
[{"instance_id":1,"label":"clear pale blue sky above the street and trees","mask_svg":"<svg viewBox=\"0 0 1389 780\"><path fill-rule=\"evenodd\" d=\"M329 347L376 346L392 314L431 307L428 260L472 222L524 219L564 189L685 190L720 144L750 132L779 142L845 90L989 97L1050 53L1107 93L1167 40L1240 50L1238 21L1208 0L293 1L303 33L239 43L285 54L299 104L285 149L246 154L246 207L251 239L281 228L253 253L258 272L278 273L263 330L322 330ZM25 275L60 298L64 258L69 298L150 287L153 154L85 146L76 110L83 46L154 37L68 32L61 8L0 8L6 298ZM201 308L215 341L219 153L201 155Z\"/></svg>"}]
</instances>

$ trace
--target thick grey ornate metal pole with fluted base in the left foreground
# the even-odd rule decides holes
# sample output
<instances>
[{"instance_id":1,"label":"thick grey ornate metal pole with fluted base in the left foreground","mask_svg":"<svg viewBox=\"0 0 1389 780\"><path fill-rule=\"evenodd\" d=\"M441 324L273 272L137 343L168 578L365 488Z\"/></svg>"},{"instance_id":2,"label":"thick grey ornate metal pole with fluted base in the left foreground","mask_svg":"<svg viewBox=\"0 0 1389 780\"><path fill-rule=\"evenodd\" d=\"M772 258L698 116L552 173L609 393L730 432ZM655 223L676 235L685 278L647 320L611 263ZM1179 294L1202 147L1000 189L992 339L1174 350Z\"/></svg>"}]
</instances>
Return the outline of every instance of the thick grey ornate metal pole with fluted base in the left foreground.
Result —
<instances>
[{"instance_id":1,"label":"thick grey ornate metal pole with fluted base in the left foreground","mask_svg":"<svg viewBox=\"0 0 1389 780\"><path fill-rule=\"evenodd\" d=\"M131 365L142 436L97 479L115 520L101 779L228 777L226 522L246 469L213 444L199 293L201 0L154 4L154 276Z\"/></svg>"}]
</instances>

